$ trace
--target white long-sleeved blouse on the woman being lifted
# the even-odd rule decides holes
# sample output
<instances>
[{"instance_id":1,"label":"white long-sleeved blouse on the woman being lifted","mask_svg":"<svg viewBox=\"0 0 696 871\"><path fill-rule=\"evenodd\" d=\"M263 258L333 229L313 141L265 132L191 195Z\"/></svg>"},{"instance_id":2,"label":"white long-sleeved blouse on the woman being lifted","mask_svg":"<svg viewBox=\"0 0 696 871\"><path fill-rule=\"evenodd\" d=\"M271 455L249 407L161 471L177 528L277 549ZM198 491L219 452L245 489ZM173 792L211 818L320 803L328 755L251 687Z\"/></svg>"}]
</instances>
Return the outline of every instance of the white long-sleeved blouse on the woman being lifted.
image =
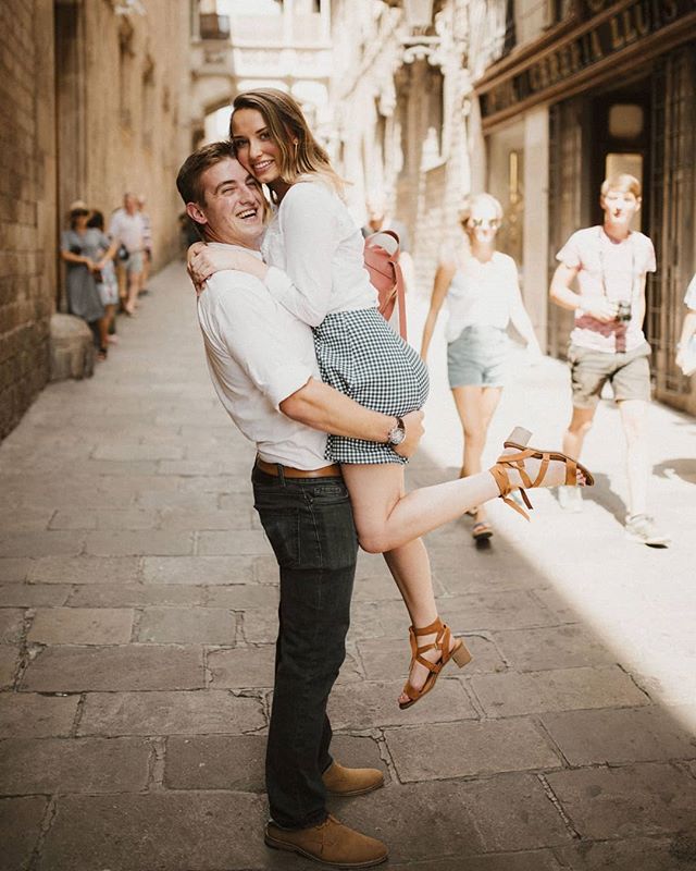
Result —
<instances>
[{"instance_id":1,"label":"white long-sleeved blouse on the woman being lifted","mask_svg":"<svg viewBox=\"0 0 696 871\"><path fill-rule=\"evenodd\" d=\"M363 244L350 212L327 184L297 182L265 232L261 253L271 267L265 285L310 327L335 311L374 308L377 293L363 267Z\"/></svg>"}]
</instances>

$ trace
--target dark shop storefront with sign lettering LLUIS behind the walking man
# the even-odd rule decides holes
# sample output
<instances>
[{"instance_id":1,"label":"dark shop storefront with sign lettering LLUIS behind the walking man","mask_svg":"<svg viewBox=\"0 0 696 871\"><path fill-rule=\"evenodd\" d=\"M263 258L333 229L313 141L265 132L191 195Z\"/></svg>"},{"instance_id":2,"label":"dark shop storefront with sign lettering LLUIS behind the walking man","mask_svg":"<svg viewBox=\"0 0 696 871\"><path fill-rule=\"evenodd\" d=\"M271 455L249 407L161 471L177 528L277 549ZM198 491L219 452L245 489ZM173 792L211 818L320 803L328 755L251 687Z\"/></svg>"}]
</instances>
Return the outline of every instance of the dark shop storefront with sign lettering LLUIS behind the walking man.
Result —
<instances>
[{"instance_id":1,"label":"dark shop storefront with sign lettering LLUIS behind the walking man","mask_svg":"<svg viewBox=\"0 0 696 871\"><path fill-rule=\"evenodd\" d=\"M557 4L564 7L567 4ZM656 396L696 413L674 366L683 296L696 271L696 0L586 0L476 83L488 186L511 216L511 253L549 353L571 315L546 302L555 254L601 221L606 175L643 183L639 226L655 243L646 332Z\"/></svg>"}]
</instances>

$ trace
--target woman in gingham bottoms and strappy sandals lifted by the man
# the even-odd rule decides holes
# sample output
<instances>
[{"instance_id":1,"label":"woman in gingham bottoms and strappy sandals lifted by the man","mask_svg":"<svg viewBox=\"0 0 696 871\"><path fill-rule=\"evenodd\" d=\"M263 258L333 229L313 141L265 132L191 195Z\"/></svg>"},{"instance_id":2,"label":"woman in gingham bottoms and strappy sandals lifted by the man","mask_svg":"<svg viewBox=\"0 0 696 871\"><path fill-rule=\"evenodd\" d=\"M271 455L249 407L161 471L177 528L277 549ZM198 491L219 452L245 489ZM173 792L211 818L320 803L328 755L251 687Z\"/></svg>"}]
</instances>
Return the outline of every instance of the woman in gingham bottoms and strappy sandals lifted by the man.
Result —
<instances>
[{"instance_id":1,"label":"woman in gingham bottoms and strappy sandals lifted by the man","mask_svg":"<svg viewBox=\"0 0 696 871\"><path fill-rule=\"evenodd\" d=\"M238 95L231 133L237 159L268 185L277 206L262 246L268 263L235 249L197 245L189 249L190 271L198 282L221 269L259 278L285 308L312 327L322 379L360 404L395 417L385 444L332 436L326 456L343 464L362 548L384 553L411 616L413 655L399 697L399 706L408 708L433 688L450 659L459 665L471 659L463 641L452 638L439 621L427 553L419 537L509 490L500 489L493 473L406 494L403 459L393 449L402 431L401 417L425 401L427 373L418 354L378 314L376 293L363 268L363 240L340 196L341 180L297 102L282 91ZM506 465L507 459L501 457L500 468L521 484L517 467ZM569 477L564 464L551 463L542 483L537 459L526 462L533 466L531 475L539 478L537 486L550 487L551 480Z\"/></svg>"}]
</instances>

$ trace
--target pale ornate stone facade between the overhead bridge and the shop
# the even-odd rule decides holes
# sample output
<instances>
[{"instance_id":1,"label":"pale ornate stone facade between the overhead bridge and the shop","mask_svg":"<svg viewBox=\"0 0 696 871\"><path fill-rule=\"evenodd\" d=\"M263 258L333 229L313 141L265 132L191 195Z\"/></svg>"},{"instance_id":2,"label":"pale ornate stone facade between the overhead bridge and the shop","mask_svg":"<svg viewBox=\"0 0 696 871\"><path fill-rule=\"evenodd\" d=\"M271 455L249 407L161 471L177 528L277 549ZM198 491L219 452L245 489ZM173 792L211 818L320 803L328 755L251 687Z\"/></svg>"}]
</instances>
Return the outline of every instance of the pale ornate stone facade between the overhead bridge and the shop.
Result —
<instances>
[{"instance_id":1,"label":"pale ornate stone facade between the overhead bridge and the shop","mask_svg":"<svg viewBox=\"0 0 696 871\"><path fill-rule=\"evenodd\" d=\"M334 142L358 219L383 198L406 223L417 286L471 189L468 0L334 0Z\"/></svg>"}]
</instances>

